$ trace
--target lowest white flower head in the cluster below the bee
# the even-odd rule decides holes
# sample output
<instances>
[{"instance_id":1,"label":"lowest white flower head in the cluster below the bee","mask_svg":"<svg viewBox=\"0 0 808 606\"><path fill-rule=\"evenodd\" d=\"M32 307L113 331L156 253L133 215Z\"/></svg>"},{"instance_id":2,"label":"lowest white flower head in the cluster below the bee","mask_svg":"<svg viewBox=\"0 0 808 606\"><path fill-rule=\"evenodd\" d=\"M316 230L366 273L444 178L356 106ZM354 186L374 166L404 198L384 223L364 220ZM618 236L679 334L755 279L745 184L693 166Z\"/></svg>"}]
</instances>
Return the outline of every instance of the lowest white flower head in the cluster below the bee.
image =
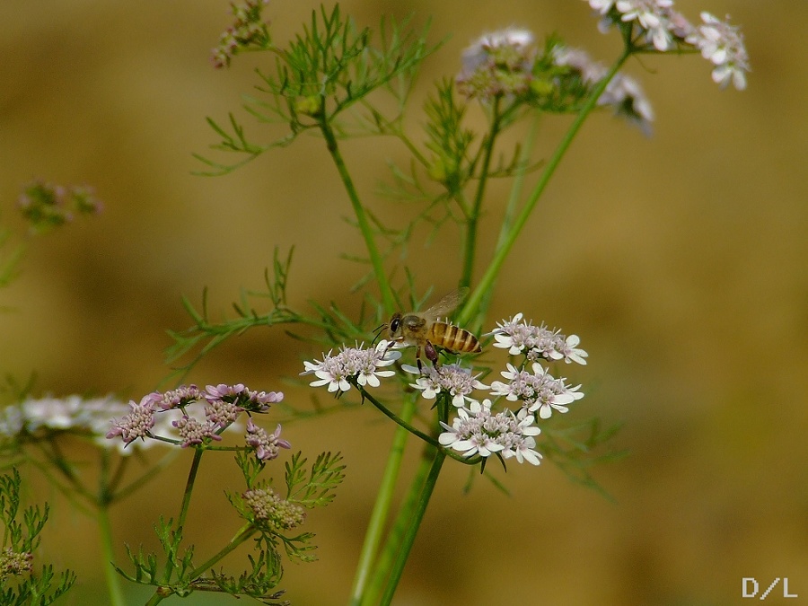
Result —
<instances>
[{"instance_id":1,"label":"lowest white flower head in the cluster below the bee","mask_svg":"<svg viewBox=\"0 0 808 606\"><path fill-rule=\"evenodd\" d=\"M518 415L511 410L495 415L491 412L491 400L482 403L473 400L468 411L460 408L457 413L452 426L441 422L447 431L438 436L440 444L462 452L467 458L475 454L486 458L498 453L505 459L516 457L520 463L540 463L541 455L534 450L533 436L541 430L533 426L534 418L527 410L520 410Z\"/></svg>"}]
</instances>

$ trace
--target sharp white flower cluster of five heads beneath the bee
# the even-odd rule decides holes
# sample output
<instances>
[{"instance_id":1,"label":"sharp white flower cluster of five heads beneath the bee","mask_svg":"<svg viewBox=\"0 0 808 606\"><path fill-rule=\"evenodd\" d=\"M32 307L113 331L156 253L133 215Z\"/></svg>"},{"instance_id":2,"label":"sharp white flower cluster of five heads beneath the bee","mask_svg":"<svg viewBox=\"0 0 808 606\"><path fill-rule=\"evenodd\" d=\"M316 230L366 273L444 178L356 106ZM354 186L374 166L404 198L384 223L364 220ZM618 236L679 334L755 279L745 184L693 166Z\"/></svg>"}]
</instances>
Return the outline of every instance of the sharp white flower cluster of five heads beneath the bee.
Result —
<instances>
[{"instance_id":1,"label":"sharp white flower cluster of five heads beneath the bee","mask_svg":"<svg viewBox=\"0 0 808 606\"><path fill-rule=\"evenodd\" d=\"M421 392L425 400L435 400L445 394L456 416L452 424L441 422L444 432L438 436L440 444L462 453L463 457L475 455L487 458L496 454L502 459L515 458L538 465L540 452L536 451L536 439L540 428L535 426L538 417L547 419L553 411L565 413L568 405L580 400L584 394L581 386L570 387L565 379L556 379L548 369L537 362L539 359L564 360L567 364L586 364L587 353L578 347L581 339L576 335L566 337L558 330L533 326L523 321L523 314L517 313L511 320L497 322L491 333L495 347L506 348L512 356L523 354L525 364L531 370L507 364L502 376L507 382L495 381L486 385L479 381L479 374L472 374L470 368L460 364L426 365L423 368L404 364L402 370L417 375L409 386ZM329 352L322 360L304 362L305 371L301 374L314 374L317 379L312 387L327 386L329 391L343 392L351 385L361 387L380 385L379 377L389 377L392 370L380 370L393 364L401 356L390 341L382 341L376 347L343 347L332 356ZM478 400L473 391L488 391L491 396L505 397L506 401L519 401L521 406L499 412L492 410L492 401Z\"/></svg>"}]
</instances>

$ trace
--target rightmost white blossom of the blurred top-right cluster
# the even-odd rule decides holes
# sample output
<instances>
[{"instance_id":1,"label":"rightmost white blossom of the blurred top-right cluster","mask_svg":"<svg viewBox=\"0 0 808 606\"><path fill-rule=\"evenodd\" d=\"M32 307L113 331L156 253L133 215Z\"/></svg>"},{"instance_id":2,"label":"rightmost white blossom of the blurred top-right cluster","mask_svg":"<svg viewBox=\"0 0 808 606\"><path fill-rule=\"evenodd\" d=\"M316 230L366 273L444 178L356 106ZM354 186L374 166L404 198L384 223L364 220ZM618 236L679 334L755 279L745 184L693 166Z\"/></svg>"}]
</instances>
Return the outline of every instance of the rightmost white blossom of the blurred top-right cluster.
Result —
<instances>
[{"instance_id":1,"label":"rightmost white blossom of the blurred top-right cluster","mask_svg":"<svg viewBox=\"0 0 808 606\"><path fill-rule=\"evenodd\" d=\"M721 88L732 82L737 90L742 91L746 88L745 72L750 71L750 66L741 32L707 12L701 13L701 20L704 24L689 35L688 42L716 66L713 82Z\"/></svg>"}]
</instances>

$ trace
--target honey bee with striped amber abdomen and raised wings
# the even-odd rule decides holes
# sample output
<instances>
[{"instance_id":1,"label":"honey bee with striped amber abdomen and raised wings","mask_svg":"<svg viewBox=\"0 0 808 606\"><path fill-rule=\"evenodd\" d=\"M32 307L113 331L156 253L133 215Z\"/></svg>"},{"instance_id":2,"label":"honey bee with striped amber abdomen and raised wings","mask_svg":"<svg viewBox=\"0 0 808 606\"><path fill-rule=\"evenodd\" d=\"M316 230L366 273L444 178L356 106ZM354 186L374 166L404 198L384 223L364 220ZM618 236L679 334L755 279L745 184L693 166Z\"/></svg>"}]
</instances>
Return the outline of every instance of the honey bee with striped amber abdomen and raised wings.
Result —
<instances>
[{"instance_id":1,"label":"honey bee with striped amber abdomen and raised wings","mask_svg":"<svg viewBox=\"0 0 808 606\"><path fill-rule=\"evenodd\" d=\"M426 359L435 367L437 367L435 347L443 347L452 353L476 354L482 351L477 337L468 330L454 326L448 320L448 315L468 292L468 288L452 291L426 312L396 312L392 315L386 326L388 338L396 343L417 346L418 370L421 370L421 347L424 347ZM446 318L446 321L441 321L442 317Z\"/></svg>"}]
</instances>

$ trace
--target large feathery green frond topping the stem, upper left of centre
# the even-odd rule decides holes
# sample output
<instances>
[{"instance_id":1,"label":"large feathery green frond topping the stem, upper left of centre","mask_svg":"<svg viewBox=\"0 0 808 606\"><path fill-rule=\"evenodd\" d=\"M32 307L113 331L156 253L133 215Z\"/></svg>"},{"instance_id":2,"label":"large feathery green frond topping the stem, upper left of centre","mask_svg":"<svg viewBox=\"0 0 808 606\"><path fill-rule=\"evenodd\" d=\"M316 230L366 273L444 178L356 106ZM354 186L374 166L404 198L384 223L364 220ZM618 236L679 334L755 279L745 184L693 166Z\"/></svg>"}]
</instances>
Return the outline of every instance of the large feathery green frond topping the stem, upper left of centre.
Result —
<instances>
[{"instance_id":1,"label":"large feathery green frond topping the stem, upper left of centre","mask_svg":"<svg viewBox=\"0 0 808 606\"><path fill-rule=\"evenodd\" d=\"M244 157L228 163L195 154L206 165L201 173L233 171L269 149L289 145L302 133L319 129L321 122L328 122L338 136L351 136L347 125L338 124L336 119L358 101L364 103L363 116L356 120L360 130L378 133L382 125L399 120L418 66L437 48L426 44L428 26L416 33L408 28L409 21L382 18L380 40L375 45L373 31L359 29L352 19L344 18L338 4L330 13L324 6L312 11L311 22L303 25L302 33L287 48L266 48L275 60L271 70L256 70L261 80L256 88L263 94L244 98L244 110L253 119L283 124L288 127L287 134L270 143L256 144L247 139L244 127L233 114L228 127L207 119L221 137L212 148ZM377 90L388 92L396 101L398 113L394 118L384 119L381 111L366 102Z\"/></svg>"}]
</instances>

